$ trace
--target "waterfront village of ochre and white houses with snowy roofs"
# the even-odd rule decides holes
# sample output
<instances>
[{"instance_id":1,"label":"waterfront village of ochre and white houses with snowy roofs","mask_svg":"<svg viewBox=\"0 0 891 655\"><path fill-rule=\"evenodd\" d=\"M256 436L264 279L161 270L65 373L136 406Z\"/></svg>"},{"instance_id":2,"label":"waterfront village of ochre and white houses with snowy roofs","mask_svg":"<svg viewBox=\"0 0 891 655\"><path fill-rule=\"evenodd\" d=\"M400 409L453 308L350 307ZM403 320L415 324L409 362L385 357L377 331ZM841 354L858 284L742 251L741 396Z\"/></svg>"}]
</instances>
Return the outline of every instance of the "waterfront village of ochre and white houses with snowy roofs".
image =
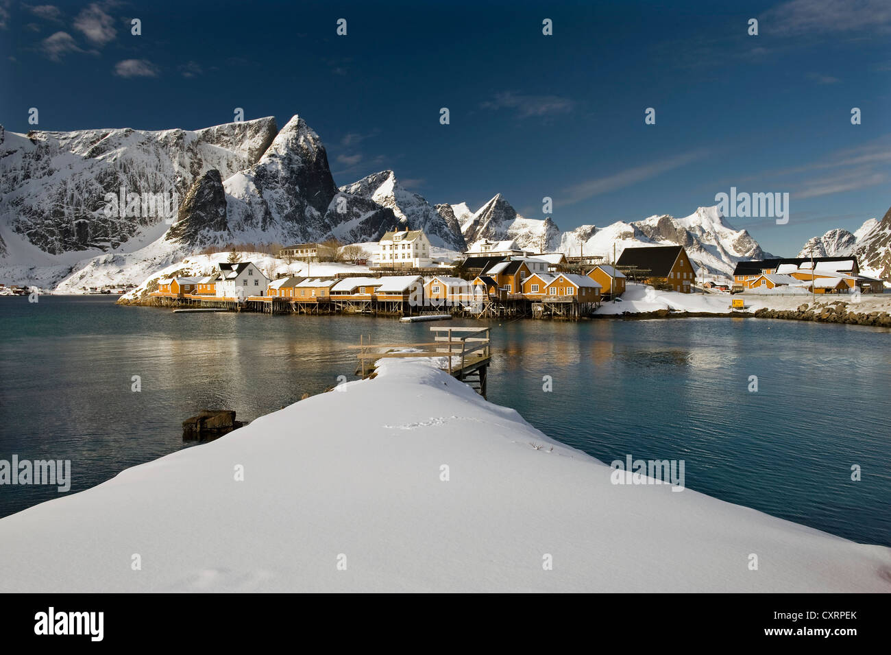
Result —
<instances>
[{"instance_id":1,"label":"waterfront village of ochre and white houses with snowy roofs","mask_svg":"<svg viewBox=\"0 0 891 655\"><path fill-rule=\"evenodd\" d=\"M149 286L144 304L218 308L271 314L358 313L580 319L605 301L621 301L630 281L658 291L699 293L826 294L881 293L884 282L860 274L853 258L743 261L732 289L697 283L697 270L683 246L625 248L613 263L602 257L568 258L536 253L516 242L480 241L462 257L435 260L422 230L391 230L373 252L367 272L315 276L312 263L331 261L321 243L282 248L280 258L307 262L307 274L270 279L253 261L219 261L204 276L173 276ZM357 259L364 264L366 259ZM740 303L741 305L741 303Z\"/></svg>"}]
</instances>

